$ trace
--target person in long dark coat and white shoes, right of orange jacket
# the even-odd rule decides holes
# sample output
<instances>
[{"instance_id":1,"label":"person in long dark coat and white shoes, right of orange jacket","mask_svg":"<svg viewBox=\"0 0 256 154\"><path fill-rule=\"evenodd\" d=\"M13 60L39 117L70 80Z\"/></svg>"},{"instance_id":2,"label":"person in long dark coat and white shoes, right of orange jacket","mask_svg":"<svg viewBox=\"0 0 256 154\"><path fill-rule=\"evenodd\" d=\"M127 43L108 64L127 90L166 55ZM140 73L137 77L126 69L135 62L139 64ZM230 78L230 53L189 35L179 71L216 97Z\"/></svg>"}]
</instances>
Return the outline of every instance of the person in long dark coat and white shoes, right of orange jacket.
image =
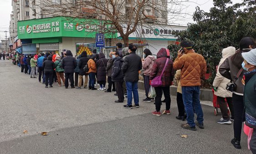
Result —
<instances>
[{"instance_id":1,"label":"person in long dark coat and white shoes, right of orange jacket","mask_svg":"<svg viewBox=\"0 0 256 154\"><path fill-rule=\"evenodd\" d=\"M106 67L108 60L105 58L104 53L99 53L99 60L96 63L97 67L97 81L100 84L98 90L106 90Z\"/></svg>"}]
</instances>

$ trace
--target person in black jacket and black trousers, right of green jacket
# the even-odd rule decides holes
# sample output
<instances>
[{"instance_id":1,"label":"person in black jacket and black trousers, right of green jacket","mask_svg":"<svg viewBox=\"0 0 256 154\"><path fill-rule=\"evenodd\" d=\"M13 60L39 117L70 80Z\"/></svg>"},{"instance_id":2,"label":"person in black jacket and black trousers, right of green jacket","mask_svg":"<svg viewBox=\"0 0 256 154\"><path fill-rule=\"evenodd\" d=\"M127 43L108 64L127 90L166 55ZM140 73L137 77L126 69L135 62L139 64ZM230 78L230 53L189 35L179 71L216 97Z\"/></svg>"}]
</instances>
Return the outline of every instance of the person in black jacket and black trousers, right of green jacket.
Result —
<instances>
[{"instance_id":1,"label":"person in black jacket and black trousers, right of green jacket","mask_svg":"<svg viewBox=\"0 0 256 154\"><path fill-rule=\"evenodd\" d=\"M74 69L77 67L77 61L72 57L72 53L70 50L67 50L66 57L62 59L61 65L64 68L65 73L65 88L68 87L68 79L70 80L71 88L75 88L74 86Z\"/></svg>"}]
</instances>

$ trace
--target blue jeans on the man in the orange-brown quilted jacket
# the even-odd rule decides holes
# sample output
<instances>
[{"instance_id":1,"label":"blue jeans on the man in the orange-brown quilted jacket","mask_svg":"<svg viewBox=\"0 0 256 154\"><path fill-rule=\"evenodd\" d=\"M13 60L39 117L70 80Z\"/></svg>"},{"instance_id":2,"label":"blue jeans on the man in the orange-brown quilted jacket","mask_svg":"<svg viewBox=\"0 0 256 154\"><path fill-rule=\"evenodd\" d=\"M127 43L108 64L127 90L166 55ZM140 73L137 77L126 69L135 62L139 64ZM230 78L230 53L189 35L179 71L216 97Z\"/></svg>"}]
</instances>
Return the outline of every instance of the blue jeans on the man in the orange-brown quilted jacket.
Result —
<instances>
[{"instance_id":1,"label":"blue jeans on the man in the orange-brown quilted jacket","mask_svg":"<svg viewBox=\"0 0 256 154\"><path fill-rule=\"evenodd\" d=\"M185 106L185 110L187 113L187 121L191 127L195 126L194 121L194 110L197 115L196 120L199 124L202 124L204 121L204 114L202 111L202 106L200 104L200 87L199 86L191 86L191 87L182 87L182 97L183 103Z\"/></svg>"}]
</instances>

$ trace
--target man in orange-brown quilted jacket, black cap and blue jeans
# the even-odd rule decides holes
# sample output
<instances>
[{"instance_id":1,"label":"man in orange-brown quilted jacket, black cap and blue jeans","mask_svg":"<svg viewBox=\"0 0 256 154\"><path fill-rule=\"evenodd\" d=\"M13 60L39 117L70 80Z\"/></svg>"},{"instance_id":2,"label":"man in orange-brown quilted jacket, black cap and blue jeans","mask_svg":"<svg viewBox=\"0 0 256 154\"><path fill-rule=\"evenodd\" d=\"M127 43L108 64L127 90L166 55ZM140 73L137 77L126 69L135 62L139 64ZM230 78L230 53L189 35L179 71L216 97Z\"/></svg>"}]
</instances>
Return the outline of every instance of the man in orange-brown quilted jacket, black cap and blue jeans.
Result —
<instances>
[{"instance_id":1,"label":"man in orange-brown quilted jacket, black cap and blue jeans","mask_svg":"<svg viewBox=\"0 0 256 154\"><path fill-rule=\"evenodd\" d=\"M180 83L188 122L182 124L181 127L196 130L195 125L198 125L199 128L203 129L204 118L199 97L201 78L206 72L206 62L202 55L195 53L192 43L188 40L182 41L180 46L182 48L178 51L178 57L174 61L174 69L181 69ZM193 106L197 115L196 122L194 121Z\"/></svg>"}]
</instances>

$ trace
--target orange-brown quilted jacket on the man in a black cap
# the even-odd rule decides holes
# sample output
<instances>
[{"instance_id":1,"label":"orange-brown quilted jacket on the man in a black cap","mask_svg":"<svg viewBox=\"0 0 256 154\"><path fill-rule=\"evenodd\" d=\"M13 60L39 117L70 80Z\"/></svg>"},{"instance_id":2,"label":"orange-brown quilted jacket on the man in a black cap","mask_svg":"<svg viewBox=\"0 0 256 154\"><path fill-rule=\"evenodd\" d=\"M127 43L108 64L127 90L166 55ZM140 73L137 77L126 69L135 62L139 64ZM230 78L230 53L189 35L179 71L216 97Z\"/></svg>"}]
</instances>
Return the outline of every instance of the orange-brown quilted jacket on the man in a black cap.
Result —
<instances>
[{"instance_id":1,"label":"orange-brown quilted jacket on the man in a black cap","mask_svg":"<svg viewBox=\"0 0 256 154\"><path fill-rule=\"evenodd\" d=\"M206 72L206 62L202 55L189 51L183 56L178 55L174 61L174 69L181 69L181 87L201 86L201 77Z\"/></svg>"}]
</instances>

